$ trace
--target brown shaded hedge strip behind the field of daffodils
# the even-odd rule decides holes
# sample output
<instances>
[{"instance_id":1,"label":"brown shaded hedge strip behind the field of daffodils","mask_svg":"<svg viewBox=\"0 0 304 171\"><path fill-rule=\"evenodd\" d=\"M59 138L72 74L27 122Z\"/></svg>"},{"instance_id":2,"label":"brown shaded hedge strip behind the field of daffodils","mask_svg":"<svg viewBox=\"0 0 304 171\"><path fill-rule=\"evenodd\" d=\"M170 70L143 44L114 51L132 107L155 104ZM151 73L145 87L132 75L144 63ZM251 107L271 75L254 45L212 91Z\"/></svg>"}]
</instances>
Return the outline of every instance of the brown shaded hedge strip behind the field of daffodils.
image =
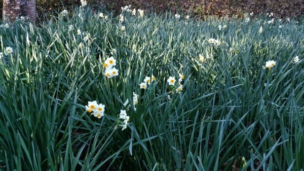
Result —
<instances>
[{"instance_id":1,"label":"brown shaded hedge strip behind the field of daffodils","mask_svg":"<svg viewBox=\"0 0 304 171\"><path fill-rule=\"evenodd\" d=\"M36 0L36 13L39 17L52 14L53 10L72 10L73 5L80 5L80 0ZM93 10L105 8L120 12L121 7L131 5L131 8L144 9L150 12L187 13L192 17L203 18L205 15L237 16L253 12L254 15L273 12L279 18L297 18L304 14L304 0L89 0L88 5ZM2 10L3 1L0 2ZM0 14L2 18L2 13Z\"/></svg>"}]
</instances>

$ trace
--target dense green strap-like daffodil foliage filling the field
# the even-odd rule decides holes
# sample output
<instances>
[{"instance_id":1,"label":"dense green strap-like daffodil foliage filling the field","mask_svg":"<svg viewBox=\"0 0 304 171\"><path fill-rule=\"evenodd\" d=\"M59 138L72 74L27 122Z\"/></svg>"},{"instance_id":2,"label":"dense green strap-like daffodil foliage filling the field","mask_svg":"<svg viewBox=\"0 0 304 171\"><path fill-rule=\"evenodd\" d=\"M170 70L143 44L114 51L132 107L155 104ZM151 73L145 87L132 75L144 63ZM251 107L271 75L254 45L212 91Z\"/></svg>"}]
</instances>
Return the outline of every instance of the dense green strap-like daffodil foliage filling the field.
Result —
<instances>
[{"instance_id":1,"label":"dense green strap-like daffodil foliage filling the field","mask_svg":"<svg viewBox=\"0 0 304 171\"><path fill-rule=\"evenodd\" d=\"M304 168L303 23L132 12L3 23L1 169Z\"/></svg>"}]
</instances>

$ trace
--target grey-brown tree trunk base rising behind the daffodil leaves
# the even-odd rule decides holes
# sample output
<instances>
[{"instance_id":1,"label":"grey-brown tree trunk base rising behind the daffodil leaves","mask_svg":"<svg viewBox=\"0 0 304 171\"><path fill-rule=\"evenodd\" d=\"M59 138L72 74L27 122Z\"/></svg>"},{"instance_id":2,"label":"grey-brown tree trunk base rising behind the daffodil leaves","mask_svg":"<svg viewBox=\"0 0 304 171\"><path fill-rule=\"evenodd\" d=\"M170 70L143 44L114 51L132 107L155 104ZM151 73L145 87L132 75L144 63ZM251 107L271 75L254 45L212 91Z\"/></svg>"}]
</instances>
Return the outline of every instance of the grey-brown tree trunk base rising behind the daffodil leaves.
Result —
<instances>
[{"instance_id":1,"label":"grey-brown tree trunk base rising behind the daffodil leaves","mask_svg":"<svg viewBox=\"0 0 304 171\"><path fill-rule=\"evenodd\" d=\"M16 17L29 17L35 22L36 0L3 0L3 20L9 18L14 21Z\"/></svg>"}]
</instances>

